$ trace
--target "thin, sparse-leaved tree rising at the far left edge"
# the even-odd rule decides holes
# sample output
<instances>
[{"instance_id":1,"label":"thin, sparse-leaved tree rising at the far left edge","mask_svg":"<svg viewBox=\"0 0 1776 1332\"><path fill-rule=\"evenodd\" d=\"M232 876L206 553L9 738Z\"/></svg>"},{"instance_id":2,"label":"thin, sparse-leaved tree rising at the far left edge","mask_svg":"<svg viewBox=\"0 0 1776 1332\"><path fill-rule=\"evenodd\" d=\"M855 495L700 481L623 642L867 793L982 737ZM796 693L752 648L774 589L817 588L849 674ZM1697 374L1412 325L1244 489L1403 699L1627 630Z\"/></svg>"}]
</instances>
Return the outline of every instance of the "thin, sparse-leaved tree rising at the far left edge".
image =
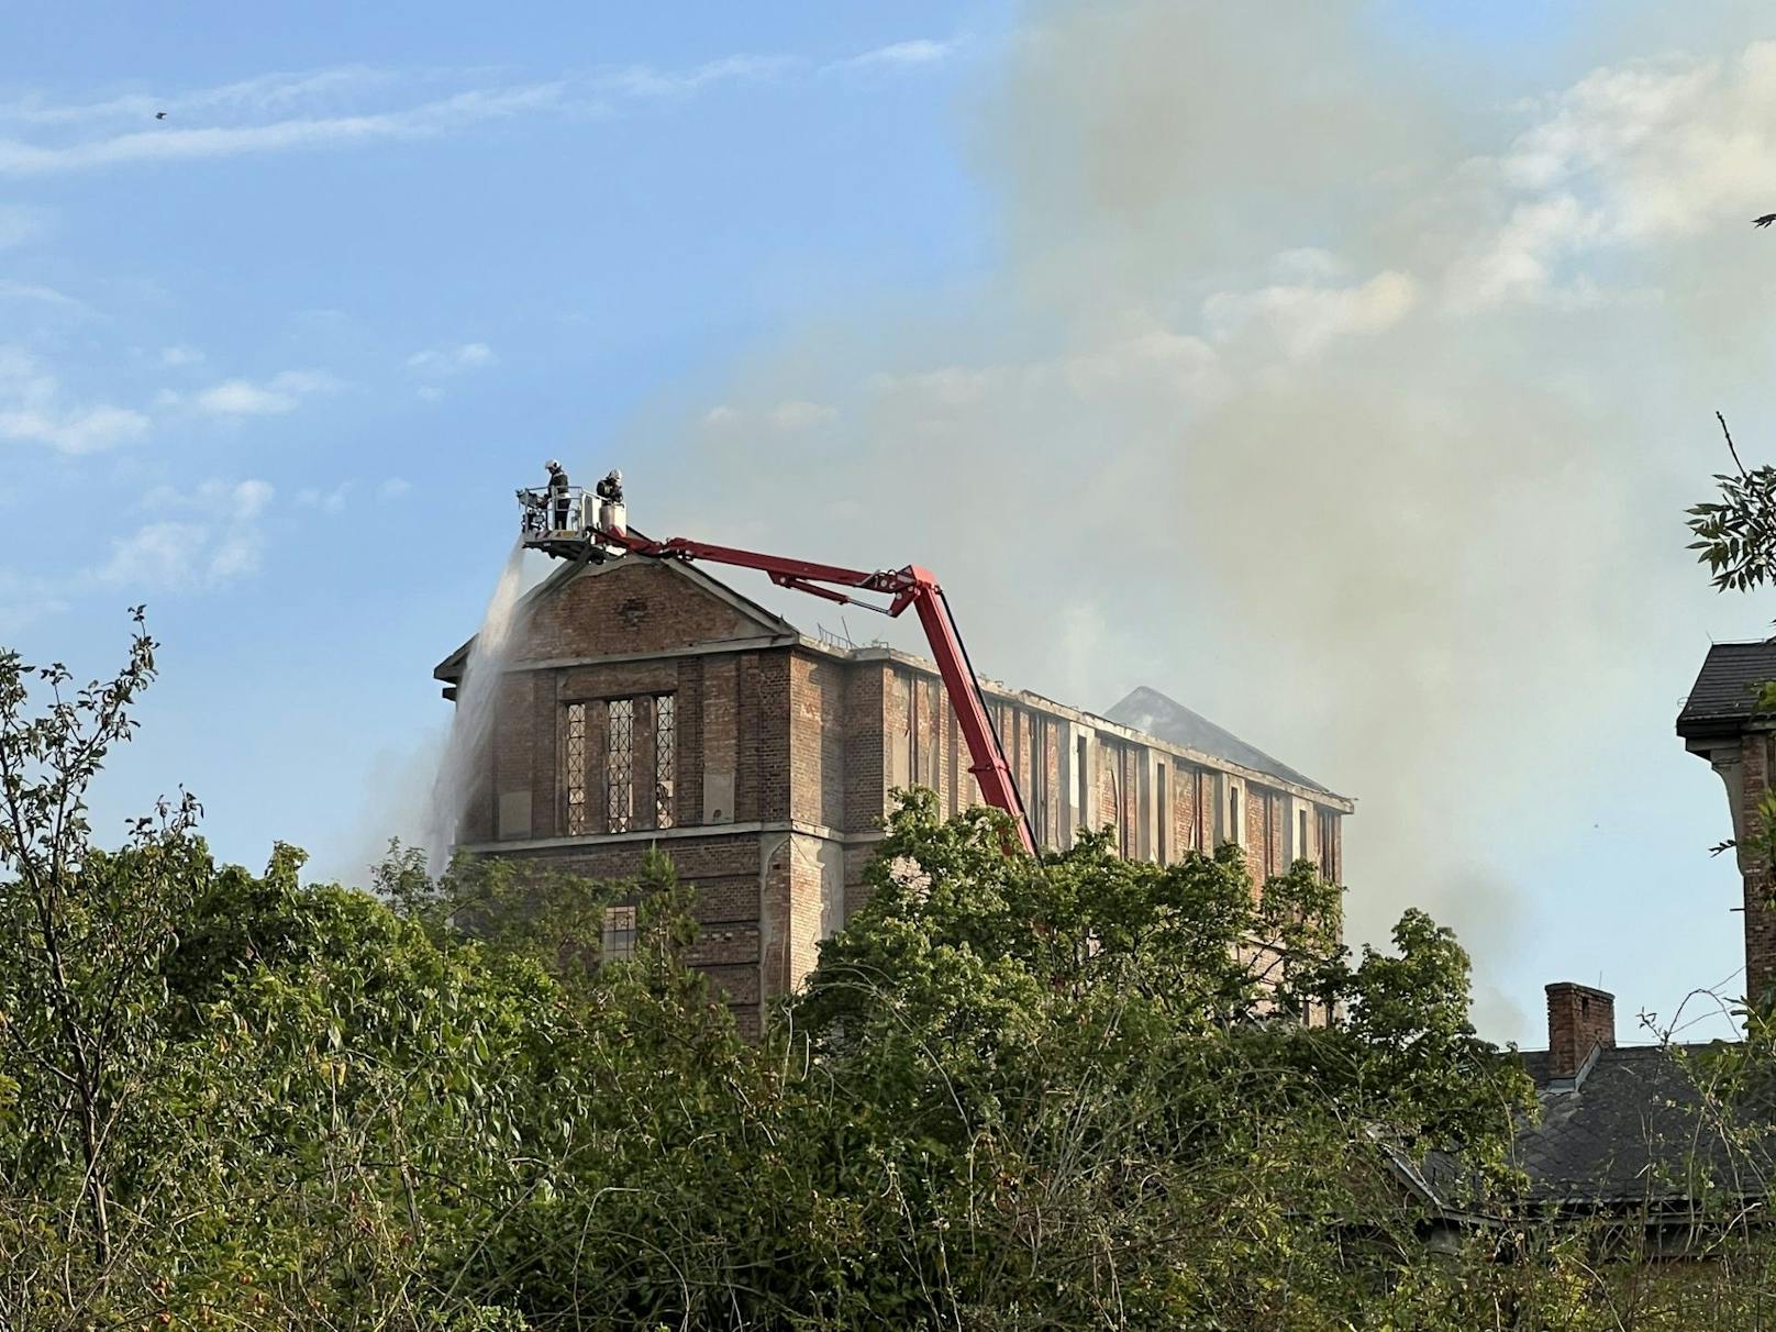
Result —
<instances>
[{"instance_id":1,"label":"thin, sparse-leaved tree rising at the far left edge","mask_svg":"<svg viewBox=\"0 0 1776 1332\"><path fill-rule=\"evenodd\" d=\"M12 1188L66 1199L69 1231L105 1272L114 1238L117 1121L158 1057L153 1012L170 920L190 893L195 805L163 803L115 854L89 842L87 789L130 739L130 705L155 677L137 632L124 670L73 689L55 662L0 652L0 1066L5 1110L37 1135L9 1162ZM48 705L30 710L30 684Z\"/></svg>"}]
</instances>

